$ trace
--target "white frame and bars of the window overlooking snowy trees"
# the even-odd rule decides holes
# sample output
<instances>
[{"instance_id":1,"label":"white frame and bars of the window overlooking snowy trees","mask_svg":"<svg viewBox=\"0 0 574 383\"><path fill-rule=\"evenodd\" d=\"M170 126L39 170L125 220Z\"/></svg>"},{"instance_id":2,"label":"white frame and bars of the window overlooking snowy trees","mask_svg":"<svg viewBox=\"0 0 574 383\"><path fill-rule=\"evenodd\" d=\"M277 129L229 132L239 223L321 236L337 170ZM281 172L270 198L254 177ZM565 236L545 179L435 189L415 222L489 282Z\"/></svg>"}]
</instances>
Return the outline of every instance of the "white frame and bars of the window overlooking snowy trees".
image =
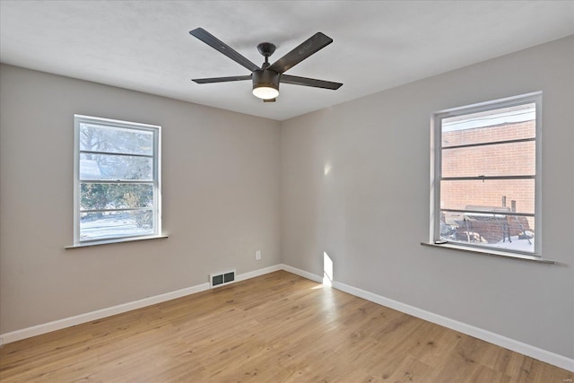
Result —
<instances>
[{"instance_id":1,"label":"white frame and bars of the window overlooking snowy trees","mask_svg":"<svg viewBox=\"0 0 574 383\"><path fill-rule=\"evenodd\" d=\"M83 151L80 148L81 132L80 126L83 123L89 123L99 126L109 126L112 128L129 129L133 131L144 131L152 133L152 155L141 155L141 154L127 154L121 153L120 155L130 155L134 157L146 157L152 159L152 193L153 193L153 205L152 205L152 233L146 233L143 235L130 235L130 236L117 236L108 237L103 239L81 239L81 184L85 180L80 179L80 158L83 152L97 153L97 151ZM116 155L114 152L101 152L107 155ZM129 180L104 180L103 183L118 183L118 184L137 184L143 183L143 181L137 180L130 182ZM145 182L148 183L148 182ZM90 212L95 211L125 211L132 210L131 208L126 209L95 209ZM133 209L140 210L140 209ZM140 239L154 239L154 238L165 238L166 236L161 234L161 126L142 124L130 121L123 121L111 118L99 118L93 116L84 116L79 114L74 114L74 246L68 248L93 246L100 244L109 244L117 242L126 242Z\"/></svg>"}]
</instances>

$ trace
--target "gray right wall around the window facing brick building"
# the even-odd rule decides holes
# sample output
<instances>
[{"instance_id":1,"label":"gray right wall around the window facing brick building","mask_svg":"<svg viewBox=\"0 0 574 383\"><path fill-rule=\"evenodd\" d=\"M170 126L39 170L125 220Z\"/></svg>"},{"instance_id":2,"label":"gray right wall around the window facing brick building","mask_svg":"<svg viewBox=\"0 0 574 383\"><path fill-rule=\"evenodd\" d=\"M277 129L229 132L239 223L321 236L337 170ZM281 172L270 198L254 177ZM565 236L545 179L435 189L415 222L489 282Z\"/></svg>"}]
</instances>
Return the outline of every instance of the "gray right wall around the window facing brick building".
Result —
<instances>
[{"instance_id":1,"label":"gray right wall around the window facing brick building","mask_svg":"<svg viewBox=\"0 0 574 383\"><path fill-rule=\"evenodd\" d=\"M573 68L570 37L284 122L283 263L322 275L326 252L337 282L574 357ZM544 92L538 240L561 265L422 247L431 114L531 91Z\"/></svg>"}]
</instances>

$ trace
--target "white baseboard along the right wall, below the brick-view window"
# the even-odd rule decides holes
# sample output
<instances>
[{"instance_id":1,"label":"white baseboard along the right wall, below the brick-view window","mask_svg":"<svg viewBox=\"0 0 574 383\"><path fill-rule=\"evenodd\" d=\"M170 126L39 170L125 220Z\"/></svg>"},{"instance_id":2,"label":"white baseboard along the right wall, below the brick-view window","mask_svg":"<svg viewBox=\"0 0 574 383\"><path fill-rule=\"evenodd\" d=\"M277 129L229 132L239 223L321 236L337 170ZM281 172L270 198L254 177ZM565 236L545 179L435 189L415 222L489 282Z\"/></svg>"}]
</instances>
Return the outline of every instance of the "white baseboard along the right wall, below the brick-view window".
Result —
<instances>
[{"instance_id":1,"label":"white baseboard along the right wall, below the brick-view window","mask_svg":"<svg viewBox=\"0 0 574 383\"><path fill-rule=\"evenodd\" d=\"M289 265L283 265L283 270L288 271L292 274L300 275L304 278L310 279L311 281L315 281L318 283L321 283L322 281L322 278L317 274L311 274L307 271L300 270L298 268L291 267ZM550 363L553 366L557 366L560 367L561 369L570 370L574 372L574 359L570 359L566 356L562 356L557 353L552 353L550 351L543 350L530 344L524 344L514 339L510 339L506 336L495 334L476 326L467 325L463 322L459 322L454 319L442 317L430 311L424 309L418 309L416 307L401 303L397 300L391 300L381 295L375 294L373 292L367 292L365 290L352 287L348 284L333 281L332 286L337 290L341 290L342 292L348 292L349 294L352 294L356 297L365 300L370 300L371 302L374 303L378 303L381 306L385 306L390 309L396 309L397 311L404 312L405 314L412 315L413 317L421 318L440 326L445 326L447 328L458 331L465 335L474 336L475 338L482 339L485 342L499 345L500 347L507 348L517 353L522 353L538 361L545 361L546 363Z\"/></svg>"}]
</instances>

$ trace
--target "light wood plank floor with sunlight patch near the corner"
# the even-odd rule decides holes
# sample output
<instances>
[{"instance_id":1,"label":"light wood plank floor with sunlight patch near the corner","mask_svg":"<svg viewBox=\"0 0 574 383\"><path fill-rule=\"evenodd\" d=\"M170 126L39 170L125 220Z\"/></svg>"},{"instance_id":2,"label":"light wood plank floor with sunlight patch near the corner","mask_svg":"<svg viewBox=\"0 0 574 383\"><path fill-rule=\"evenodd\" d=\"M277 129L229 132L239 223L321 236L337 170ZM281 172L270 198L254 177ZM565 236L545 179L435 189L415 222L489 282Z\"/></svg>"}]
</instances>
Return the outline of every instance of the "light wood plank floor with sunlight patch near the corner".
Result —
<instances>
[{"instance_id":1,"label":"light wood plank floor with sunlight patch near the corner","mask_svg":"<svg viewBox=\"0 0 574 383\"><path fill-rule=\"evenodd\" d=\"M8 382L571 382L542 361L283 271L0 349Z\"/></svg>"}]
</instances>

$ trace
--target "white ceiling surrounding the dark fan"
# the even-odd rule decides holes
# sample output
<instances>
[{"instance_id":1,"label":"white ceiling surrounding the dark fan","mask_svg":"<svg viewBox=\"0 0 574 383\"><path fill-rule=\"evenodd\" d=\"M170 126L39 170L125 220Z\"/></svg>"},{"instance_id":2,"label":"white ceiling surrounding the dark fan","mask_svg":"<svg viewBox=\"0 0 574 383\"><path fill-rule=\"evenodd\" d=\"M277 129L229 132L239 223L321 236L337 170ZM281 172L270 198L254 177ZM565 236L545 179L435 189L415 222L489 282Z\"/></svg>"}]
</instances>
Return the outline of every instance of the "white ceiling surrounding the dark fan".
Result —
<instances>
[{"instance_id":1,"label":"white ceiling surrounding the dark fan","mask_svg":"<svg viewBox=\"0 0 574 383\"><path fill-rule=\"evenodd\" d=\"M189 35L203 27L260 65L317 31L334 42L287 74L344 83L282 84L277 102L249 74ZM574 34L574 1L8 1L0 60L39 71L284 120Z\"/></svg>"}]
</instances>

